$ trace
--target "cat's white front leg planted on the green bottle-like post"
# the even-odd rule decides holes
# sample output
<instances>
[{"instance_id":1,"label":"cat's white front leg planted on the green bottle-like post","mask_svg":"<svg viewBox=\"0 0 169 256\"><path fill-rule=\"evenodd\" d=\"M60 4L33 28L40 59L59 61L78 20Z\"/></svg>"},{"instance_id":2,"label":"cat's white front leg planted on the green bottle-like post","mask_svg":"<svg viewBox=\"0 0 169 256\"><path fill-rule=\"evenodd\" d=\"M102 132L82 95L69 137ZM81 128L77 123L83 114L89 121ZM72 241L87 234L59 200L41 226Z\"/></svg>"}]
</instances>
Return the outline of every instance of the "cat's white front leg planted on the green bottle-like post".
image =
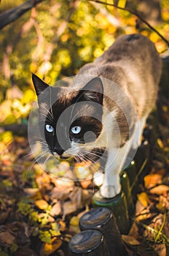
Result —
<instances>
[{"instance_id":1,"label":"cat's white front leg planted on the green bottle-like post","mask_svg":"<svg viewBox=\"0 0 169 256\"><path fill-rule=\"evenodd\" d=\"M130 150L133 140L128 140L122 148L110 148L108 159L105 167L103 185L101 186L101 195L111 198L119 194L121 185L119 173L122 170L128 151Z\"/></svg>"}]
</instances>

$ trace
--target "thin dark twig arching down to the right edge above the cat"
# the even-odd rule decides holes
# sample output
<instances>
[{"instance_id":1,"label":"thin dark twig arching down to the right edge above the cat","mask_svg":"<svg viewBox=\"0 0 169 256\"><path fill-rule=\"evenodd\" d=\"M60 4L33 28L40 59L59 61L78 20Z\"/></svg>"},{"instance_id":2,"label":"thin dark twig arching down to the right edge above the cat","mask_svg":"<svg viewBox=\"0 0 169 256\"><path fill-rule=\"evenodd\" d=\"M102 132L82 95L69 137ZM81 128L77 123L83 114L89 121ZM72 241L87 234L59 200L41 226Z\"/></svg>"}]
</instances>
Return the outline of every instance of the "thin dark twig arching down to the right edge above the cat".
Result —
<instances>
[{"instance_id":1,"label":"thin dark twig arching down to the right edge above the cat","mask_svg":"<svg viewBox=\"0 0 169 256\"><path fill-rule=\"evenodd\" d=\"M162 36L162 34L160 34L159 31L157 31L157 29L154 29L154 27L152 25L150 25L146 20L144 20L144 18L141 17L141 15L138 14L138 12L135 12L133 10L130 10L129 8L123 8L123 7L118 7L116 4L109 4L109 3L106 3L106 2L103 2L103 1L100 1L100 0L89 0L89 1L94 1L95 3L98 3L98 4L104 4L104 5L108 5L108 6L111 6L111 7L116 7L117 9L119 10L123 10L123 11L127 11L127 12L130 12L131 14L137 16L143 23L146 24L146 26L149 27L149 29L152 29L152 31L154 31L156 34L158 34L159 37L162 38L162 40L168 45L169 47L169 42L168 40Z\"/></svg>"}]
</instances>

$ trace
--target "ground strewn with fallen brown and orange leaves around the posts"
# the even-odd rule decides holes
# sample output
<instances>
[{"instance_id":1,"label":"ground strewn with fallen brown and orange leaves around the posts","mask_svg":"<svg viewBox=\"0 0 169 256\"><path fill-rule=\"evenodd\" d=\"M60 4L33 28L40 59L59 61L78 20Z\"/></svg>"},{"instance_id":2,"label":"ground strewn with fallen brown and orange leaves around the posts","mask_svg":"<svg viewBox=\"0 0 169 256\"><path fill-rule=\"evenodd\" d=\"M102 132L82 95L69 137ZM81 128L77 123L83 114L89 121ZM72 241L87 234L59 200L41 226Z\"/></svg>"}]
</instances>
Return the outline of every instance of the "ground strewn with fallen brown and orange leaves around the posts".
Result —
<instances>
[{"instance_id":1,"label":"ground strewn with fallen brown and orange leaves around the posts","mask_svg":"<svg viewBox=\"0 0 169 256\"><path fill-rule=\"evenodd\" d=\"M122 236L130 256L169 255L168 127L169 99L160 94L144 132L148 144L135 159L144 156L149 165L137 170L133 224ZM53 178L34 162L28 138L2 130L0 139L0 256L68 255L68 241L80 232L79 218L93 207L98 188L92 179ZM60 167L68 170L64 162Z\"/></svg>"}]
</instances>

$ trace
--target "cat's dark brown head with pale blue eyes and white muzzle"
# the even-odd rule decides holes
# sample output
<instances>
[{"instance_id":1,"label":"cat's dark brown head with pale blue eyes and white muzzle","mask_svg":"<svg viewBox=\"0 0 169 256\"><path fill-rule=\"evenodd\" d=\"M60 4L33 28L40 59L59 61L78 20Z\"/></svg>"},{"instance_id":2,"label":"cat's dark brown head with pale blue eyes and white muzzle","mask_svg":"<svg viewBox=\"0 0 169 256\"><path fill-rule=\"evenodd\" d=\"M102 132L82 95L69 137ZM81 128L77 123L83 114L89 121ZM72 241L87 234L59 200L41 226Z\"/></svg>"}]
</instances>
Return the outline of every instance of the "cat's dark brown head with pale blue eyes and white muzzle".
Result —
<instances>
[{"instance_id":1,"label":"cat's dark brown head with pale blue eyes and white muzzle","mask_svg":"<svg viewBox=\"0 0 169 256\"><path fill-rule=\"evenodd\" d=\"M33 75L39 102L39 128L45 147L65 159L87 161L96 156L96 141L102 131L103 85L93 78L80 90L51 87Z\"/></svg>"}]
</instances>

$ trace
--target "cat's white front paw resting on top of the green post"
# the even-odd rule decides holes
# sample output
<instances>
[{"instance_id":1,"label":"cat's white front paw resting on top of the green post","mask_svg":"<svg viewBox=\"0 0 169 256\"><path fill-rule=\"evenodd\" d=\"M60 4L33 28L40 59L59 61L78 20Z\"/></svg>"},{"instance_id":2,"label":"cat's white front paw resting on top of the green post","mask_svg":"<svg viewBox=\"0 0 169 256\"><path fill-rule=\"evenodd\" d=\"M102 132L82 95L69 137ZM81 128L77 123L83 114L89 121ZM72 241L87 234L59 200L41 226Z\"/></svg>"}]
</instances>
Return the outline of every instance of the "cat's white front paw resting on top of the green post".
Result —
<instances>
[{"instance_id":1,"label":"cat's white front paw resting on top of the green post","mask_svg":"<svg viewBox=\"0 0 169 256\"><path fill-rule=\"evenodd\" d=\"M121 187L120 186L115 186L115 185L111 185L111 186L102 186L101 187L101 195L104 198L111 198L111 197L115 197L116 195L118 195L121 192Z\"/></svg>"}]
</instances>

